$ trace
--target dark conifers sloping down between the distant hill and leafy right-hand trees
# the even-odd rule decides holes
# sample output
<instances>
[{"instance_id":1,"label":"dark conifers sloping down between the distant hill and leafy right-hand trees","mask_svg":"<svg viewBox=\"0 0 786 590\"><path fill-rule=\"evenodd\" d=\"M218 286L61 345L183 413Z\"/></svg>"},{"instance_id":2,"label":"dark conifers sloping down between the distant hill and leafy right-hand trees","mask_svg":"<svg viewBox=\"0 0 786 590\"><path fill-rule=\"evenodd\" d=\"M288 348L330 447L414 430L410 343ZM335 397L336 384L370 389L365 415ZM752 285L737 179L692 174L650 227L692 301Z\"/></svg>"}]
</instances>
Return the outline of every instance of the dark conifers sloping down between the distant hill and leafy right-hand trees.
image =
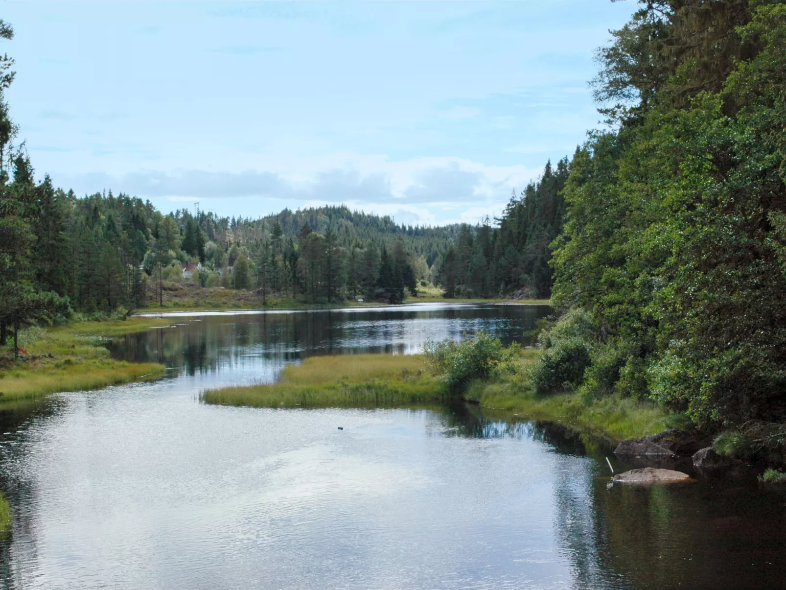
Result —
<instances>
[{"instance_id":1,"label":"dark conifers sloping down between the distant hill and leafy right-hand trees","mask_svg":"<svg viewBox=\"0 0 786 590\"><path fill-rule=\"evenodd\" d=\"M439 267L445 297L551 297L551 243L562 230L567 158L514 194L498 227L462 226Z\"/></svg>"}]
</instances>

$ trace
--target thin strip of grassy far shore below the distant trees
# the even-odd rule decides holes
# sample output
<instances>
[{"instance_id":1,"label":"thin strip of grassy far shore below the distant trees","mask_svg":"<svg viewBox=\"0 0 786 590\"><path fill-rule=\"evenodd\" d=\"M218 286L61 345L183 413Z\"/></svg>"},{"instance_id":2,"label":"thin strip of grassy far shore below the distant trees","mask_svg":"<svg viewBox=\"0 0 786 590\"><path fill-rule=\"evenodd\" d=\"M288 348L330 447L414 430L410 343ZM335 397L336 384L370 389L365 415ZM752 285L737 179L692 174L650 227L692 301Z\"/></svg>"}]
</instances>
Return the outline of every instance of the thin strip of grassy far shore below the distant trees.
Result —
<instances>
[{"instance_id":1,"label":"thin strip of grassy far shore below the distant trees","mask_svg":"<svg viewBox=\"0 0 786 590\"><path fill-rule=\"evenodd\" d=\"M156 312L230 312L257 309L336 309L336 308L374 308L387 305L380 301L337 301L332 304L303 303L294 297L267 297L263 305L262 296L255 291L245 289L226 289L225 287L200 287L193 283L165 282L163 305L159 304L158 294L149 294L147 308L138 310L143 314ZM505 303L548 305L548 299L445 299L442 289L435 287L421 288L418 296L407 295L403 304L415 303Z\"/></svg>"}]
</instances>

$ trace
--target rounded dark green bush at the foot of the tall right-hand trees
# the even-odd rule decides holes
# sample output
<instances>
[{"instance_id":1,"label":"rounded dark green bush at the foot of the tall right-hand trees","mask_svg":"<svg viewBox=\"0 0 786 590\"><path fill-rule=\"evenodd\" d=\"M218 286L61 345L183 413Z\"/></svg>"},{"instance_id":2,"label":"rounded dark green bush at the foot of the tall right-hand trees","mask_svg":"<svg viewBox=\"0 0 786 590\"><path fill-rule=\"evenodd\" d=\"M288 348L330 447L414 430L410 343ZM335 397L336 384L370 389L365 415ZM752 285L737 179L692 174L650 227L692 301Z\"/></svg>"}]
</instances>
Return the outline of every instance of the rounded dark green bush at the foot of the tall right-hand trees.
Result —
<instances>
[{"instance_id":1,"label":"rounded dark green bush at the foot of the tall right-hand trees","mask_svg":"<svg viewBox=\"0 0 786 590\"><path fill-rule=\"evenodd\" d=\"M532 367L532 385L539 394L557 393L581 385L591 363L589 343L579 337L560 340L546 348Z\"/></svg>"}]
</instances>

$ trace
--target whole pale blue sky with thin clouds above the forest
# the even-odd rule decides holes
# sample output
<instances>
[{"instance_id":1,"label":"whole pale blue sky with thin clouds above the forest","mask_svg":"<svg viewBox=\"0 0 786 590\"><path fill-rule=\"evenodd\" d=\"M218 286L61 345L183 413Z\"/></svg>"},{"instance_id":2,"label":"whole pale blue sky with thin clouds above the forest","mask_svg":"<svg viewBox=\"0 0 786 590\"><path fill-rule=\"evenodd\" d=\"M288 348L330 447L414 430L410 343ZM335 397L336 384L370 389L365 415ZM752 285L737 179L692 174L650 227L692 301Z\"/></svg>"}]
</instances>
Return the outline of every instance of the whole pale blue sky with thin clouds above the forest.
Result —
<instances>
[{"instance_id":1,"label":"whole pale blue sky with thin clouds above the forest","mask_svg":"<svg viewBox=\"0 0 786 590\"><path fill-rule=\"evenodd\" d=\"M0 51L36 176L79 195L478 223L600 127L594 51L635 8L3 2Z\"/></svg>"}]
</instances>

